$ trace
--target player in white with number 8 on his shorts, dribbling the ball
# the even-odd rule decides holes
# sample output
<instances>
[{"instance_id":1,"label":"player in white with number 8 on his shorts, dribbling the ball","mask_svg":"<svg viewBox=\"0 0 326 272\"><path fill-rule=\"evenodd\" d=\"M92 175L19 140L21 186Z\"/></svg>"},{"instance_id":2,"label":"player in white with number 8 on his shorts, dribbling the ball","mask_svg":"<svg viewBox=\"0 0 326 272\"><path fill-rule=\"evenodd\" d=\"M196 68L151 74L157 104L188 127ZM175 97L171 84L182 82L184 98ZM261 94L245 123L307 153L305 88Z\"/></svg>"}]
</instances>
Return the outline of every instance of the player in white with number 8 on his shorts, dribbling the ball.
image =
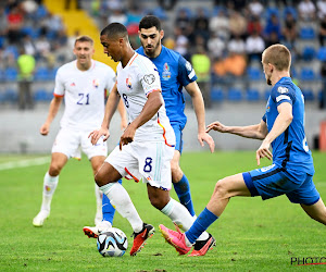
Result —
<instances>
[{"instance_id":1,"label":"player in white with number 8 on his shorts, dribbling the ball","mask_svg":"<svg viewBox=\"0 0 326 272\"><path fill-rule=\"evenodd\" d=\"M154 227L140 219L128 193L117 183L122 176L133 176L136 182L142 178L151 205L183 230L190 227L193 218L181 203L170 197L175 135L165 113L155 65L133 50L127 29L120 23L112 23L101 32L101 44L104 53L120 64L102 125L89 135L91 143L96 145L102 136L103 140L109 138L110 122L120 97L127 110L129 125L121 136L120 147L110 153L95 180L117 212L129 221L134 230L130 255L135 256L154 233ZM203 233L198 240L208 238L209 234Z\"/></svg>"}]
</instances>

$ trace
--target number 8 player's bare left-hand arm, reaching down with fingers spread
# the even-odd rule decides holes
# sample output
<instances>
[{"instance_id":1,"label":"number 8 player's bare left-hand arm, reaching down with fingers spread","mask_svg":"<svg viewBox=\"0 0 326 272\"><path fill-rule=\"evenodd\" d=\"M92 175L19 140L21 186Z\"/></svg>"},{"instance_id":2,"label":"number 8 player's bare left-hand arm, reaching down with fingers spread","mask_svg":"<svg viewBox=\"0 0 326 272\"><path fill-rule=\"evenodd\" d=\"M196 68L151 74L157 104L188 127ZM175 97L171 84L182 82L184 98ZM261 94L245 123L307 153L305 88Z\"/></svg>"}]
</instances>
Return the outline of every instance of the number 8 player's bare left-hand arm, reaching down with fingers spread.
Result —
<instances>
[{"instance_id":1,"label":"number 8 player's bare left-hand arm, reaching down with fingers spread","mask_svg":"<svg viewBox=\"0 0 326 272\"><path fill-rule=\"evenodd\" d=\"M112 120L112 116L117 108L117 103L120 101L120 95L117 92L116 84L114 84L109 99L105 104L105 112L104 112L104 119L101 125L100 129L92 131L89 135L88 138L90 138L90 141L92 145L96 145L100 137L103 136L103 141L105 141L110 137L109 133L109 126L110 122Z\"/></svg>"}]
</instances>

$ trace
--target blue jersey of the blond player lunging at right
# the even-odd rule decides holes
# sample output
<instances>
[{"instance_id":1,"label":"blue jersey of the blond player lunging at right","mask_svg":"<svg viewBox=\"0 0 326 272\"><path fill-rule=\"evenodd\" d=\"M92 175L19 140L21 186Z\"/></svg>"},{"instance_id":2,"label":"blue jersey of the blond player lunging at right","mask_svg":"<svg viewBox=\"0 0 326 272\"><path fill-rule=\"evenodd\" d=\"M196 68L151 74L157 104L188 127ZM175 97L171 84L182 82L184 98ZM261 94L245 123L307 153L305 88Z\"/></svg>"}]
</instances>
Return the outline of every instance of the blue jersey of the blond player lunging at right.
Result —
<instances>
[{"instance_id":1,"label":"blue jersey of the blond player lunging at right","mask_svg":"<svg viewBox=\"0 0 326 272\"><path fill-rule=\"evenodd\" d=\"M292 104L293 120L288 128L272 143L273 162L300 181L302 172L314 174L314 165L304 133L304 98L290 77L283 77L272 88L266 113L263 116L268 132L278 115L277 107L284 102Z\"/></svg>"}]
</instances>

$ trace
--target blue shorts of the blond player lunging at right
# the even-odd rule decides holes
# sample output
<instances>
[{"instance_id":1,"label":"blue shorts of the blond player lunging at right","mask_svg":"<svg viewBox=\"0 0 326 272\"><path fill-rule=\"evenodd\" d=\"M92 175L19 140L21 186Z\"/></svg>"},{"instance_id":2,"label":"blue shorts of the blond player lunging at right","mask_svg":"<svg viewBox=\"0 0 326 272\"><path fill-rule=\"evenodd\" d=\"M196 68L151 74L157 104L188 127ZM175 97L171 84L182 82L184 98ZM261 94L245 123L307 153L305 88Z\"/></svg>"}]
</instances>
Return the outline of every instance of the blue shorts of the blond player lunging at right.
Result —
<instances>
[{"instance_id":1,"label":"blue shorts of the blond player lunging at right","mask_svg":"<svg viewBox=\"0 0 326 272\"><path fill-rule=\"evenodd\" d=\"M261 196L263 200L285 194L292 203L314 205L321 198L312 175L304 174L299 183L275 164L242 173L242 176L251 196Z\"/></svg>"}]
</instances>

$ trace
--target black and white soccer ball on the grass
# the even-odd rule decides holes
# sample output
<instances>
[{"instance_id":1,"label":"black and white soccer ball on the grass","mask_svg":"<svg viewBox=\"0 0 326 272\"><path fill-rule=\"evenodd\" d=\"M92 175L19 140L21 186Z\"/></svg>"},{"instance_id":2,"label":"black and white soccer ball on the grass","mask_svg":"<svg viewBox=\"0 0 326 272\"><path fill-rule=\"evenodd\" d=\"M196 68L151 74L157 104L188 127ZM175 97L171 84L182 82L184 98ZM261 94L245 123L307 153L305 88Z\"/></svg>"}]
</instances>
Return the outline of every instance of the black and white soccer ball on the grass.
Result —
<instances>
[{"instance_id":1,"label":"black and white soccer ball on the grass","mask_svg":"<svg viewBox=\"0 0 326 272\"><path fill-rule=\"evenodd\" d=\"M111 227L99 235L97 246L103 257L121 257L128 248L128 240L123 231Z\"/></svg>"}]
</instances>

